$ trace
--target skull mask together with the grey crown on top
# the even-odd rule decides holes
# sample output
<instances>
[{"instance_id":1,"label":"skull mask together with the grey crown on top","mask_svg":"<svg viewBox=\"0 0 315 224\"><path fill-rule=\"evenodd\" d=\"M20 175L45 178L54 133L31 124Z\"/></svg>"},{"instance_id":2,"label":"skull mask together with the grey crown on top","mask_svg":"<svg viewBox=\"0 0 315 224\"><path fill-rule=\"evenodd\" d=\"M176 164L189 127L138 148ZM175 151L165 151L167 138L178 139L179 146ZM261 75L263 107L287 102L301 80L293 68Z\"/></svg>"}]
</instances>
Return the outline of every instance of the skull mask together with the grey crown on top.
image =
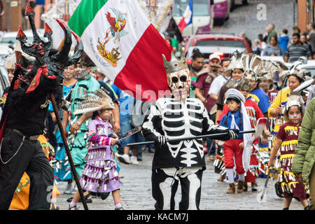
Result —
<instances>
[{"instance_id":1,"label":"skull mask together with the grey crown on top","mask_svg":"<svg viewBox=\"0 0 315 224\"><path fill-rule=\"evenodd\" d=\"M171 59L167 61L165 55L162 55L165 70L167 71L167 84L175 98L185 99L189 95L191 83L190 71L186 64L186 59L181 54L178 60L172 52Z\"/></svg>"}]
</instances>

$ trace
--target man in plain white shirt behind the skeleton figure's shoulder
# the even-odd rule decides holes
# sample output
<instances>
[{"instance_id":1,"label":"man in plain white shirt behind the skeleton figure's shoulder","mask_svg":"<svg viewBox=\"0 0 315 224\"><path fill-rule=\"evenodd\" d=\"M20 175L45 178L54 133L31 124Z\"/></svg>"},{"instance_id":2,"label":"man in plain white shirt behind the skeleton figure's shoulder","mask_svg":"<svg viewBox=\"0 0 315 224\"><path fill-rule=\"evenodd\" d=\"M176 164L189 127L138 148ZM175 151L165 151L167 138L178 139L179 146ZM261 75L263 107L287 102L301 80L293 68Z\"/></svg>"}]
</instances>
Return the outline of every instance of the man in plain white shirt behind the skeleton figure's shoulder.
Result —
<instances>
[{"instance_id":1,"label":"man in plain white shirt behind the skeleton figure's shoulder","mask_svg":"<svg viewBox=\"0 0 315 224\"><path fill-rule=\"evenodd\" d=\"M221 72L222 74L216 78L214 78L214 81L211 83L210 89L209 89L209 97L211 99L214 99L215 101L218 100L218 94L221 90L221 87L228 82L230 78L230 73L225 73L225 68L227 68L230 64L230 59L225 57L221 60Z\"/></svg>"}]
</instances>

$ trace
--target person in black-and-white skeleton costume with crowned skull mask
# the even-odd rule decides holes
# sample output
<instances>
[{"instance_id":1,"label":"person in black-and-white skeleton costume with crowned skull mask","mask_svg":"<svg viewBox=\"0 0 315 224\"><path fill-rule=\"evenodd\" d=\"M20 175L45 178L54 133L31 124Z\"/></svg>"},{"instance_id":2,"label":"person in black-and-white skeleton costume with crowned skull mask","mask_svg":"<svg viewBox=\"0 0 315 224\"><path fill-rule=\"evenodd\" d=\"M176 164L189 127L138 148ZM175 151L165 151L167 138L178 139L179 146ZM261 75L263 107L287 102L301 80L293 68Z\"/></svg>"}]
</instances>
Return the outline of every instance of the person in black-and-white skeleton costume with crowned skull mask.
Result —
<instances>
[{"instance_id":1,"label":"person in black-and-white skeleton costume with crowned skull mask","mask_svg":"<svg viewBox=\"0 0 315 224\"><path fill-rule=\"evenodd\" d=\"M172 94L158 99L142 125L144 137L155 141L152 191L155 209L174 209L181 182L179 209L199 209L202 172L206 169L202 139L167 142L179 137L222 133L222 140L235 139L239 130L214 125L200 99L189 97L190 72L186 59L163 55L167 83Z\"/></svg>"}]
</instances>

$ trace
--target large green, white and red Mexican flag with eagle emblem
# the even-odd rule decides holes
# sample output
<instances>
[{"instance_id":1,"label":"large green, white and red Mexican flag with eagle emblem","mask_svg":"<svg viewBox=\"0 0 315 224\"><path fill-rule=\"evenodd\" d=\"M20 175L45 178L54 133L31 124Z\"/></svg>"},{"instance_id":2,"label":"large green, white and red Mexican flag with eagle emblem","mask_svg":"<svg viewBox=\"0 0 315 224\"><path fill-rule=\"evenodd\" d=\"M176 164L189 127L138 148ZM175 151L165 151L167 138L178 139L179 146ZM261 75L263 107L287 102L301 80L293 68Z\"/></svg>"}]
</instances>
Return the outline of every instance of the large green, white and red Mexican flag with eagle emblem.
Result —
<instances>
[{"instance_id":1,"label":"large green, white and red Mexican flag with eagle emblem","mask_svg":"<svg viewBox=\"0 0 315 224\"><path fill-rule=\"evenodd\" d=\"M137 0L82 0L68 25L121 90L150 102L170 93L162 54L169 60L172 49Z\"/></svg>"}]
</instances>

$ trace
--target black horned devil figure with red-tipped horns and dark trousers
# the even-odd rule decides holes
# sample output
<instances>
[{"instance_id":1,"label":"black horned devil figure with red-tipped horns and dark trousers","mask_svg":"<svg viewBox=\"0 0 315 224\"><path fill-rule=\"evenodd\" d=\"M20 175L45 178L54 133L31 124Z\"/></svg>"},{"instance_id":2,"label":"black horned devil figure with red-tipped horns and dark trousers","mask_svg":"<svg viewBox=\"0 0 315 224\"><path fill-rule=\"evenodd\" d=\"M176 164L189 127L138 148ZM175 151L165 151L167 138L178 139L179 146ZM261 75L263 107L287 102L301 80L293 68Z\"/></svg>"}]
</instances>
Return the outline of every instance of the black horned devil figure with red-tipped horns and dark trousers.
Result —
<instances>
[{"instance_id":1,"label":"black horned devil figure with red-tipped horns and dark trousers","mask_svg":"<svg viewBox=\"0 0 315 224\"><path fill-rule=\"evenodd\" d=\"M22 29L18 31L18 40L23 52L35 57L27 69L16 65L13 81L10 85L6 104L1 117L0 131L0 209L8 209L15 189L24 172L29 175L31 186L28 209L49 209L50 191L53 186L53 170L43 153L38 135L43 133L45 115L48 110L48 95L60 90L64 67L73 64L83 50L82 41L78 41L77 52L69 59L71 31L62 20L57 20L64 29L65 40L60 51L52 50L52 30L45 25L44 42L38 36L34 26L34 11L27 4L25 15L29 17L34 41L27 45L27 37ZM17 59L20 62L20 59ZM60 94L61 95L61 94ZM61 97L56 94L56 101Z\"/></svg>"}]
</instances>

